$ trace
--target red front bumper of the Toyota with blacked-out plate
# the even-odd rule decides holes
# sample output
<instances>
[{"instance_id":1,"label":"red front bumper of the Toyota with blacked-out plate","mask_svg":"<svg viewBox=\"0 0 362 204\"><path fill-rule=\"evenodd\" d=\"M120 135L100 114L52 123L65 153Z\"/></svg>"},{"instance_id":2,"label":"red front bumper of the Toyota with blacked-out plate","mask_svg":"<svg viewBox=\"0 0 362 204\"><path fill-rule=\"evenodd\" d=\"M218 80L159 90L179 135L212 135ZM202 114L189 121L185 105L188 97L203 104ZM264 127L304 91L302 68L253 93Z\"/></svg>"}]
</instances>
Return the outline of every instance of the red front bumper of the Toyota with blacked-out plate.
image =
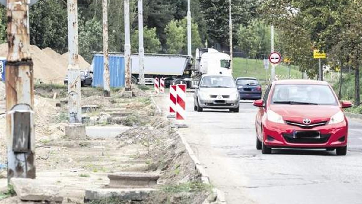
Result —
<instances>
[{"instance_id":1,"label":"red front bumper of the Toyota with blacked-out plate","mask_svg":"<svg viewBox=\"0 0 362 204\"><path fill-rule=\"evenodd\" d=\"M348 125L346 121L311 129L266 121L263 130L265 145L274 148L325 149L347 146Z\"/></svg>"}]
</instances>

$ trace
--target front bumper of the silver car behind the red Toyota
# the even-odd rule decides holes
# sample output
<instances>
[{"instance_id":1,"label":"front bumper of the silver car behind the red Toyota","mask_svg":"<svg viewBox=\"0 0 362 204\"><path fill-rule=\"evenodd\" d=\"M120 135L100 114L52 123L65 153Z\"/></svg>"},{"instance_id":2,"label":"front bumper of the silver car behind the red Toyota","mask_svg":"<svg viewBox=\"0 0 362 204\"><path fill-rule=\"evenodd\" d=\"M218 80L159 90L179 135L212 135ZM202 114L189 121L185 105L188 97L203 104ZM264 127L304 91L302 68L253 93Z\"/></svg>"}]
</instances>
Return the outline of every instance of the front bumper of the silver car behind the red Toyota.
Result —
<instances>
[{"instance_id":1,"label":"front bumper of the silver car behind the red Toyota","mask_svg":"<svg viewBox=\"0 0 362 204\"><path fill-rule=\"evenodd\" d=\"M239 99L199 99L198 102L201 108L227 109L239 107Z\"/></svg>"}]
</instances>

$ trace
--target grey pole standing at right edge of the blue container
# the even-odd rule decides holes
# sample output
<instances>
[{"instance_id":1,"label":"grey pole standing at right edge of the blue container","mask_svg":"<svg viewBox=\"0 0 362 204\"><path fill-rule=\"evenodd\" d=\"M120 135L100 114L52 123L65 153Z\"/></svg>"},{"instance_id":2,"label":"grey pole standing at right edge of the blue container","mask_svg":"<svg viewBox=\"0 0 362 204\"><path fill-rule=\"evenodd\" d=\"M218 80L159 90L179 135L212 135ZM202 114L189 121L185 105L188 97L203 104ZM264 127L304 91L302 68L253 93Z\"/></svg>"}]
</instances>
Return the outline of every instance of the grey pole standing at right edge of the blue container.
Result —
<instances>
[{"instance_id":1,"label":"grey pole standing at right edge of the blue container","mask_svg":"<svg viewBox=\"0 0 362 204\"><path fill-rule=\"evenodd\" d=\"M126 91L131 91L131 40L130 40L130 0L125 0L125 70Z\"/></svg>"}]
</instances>

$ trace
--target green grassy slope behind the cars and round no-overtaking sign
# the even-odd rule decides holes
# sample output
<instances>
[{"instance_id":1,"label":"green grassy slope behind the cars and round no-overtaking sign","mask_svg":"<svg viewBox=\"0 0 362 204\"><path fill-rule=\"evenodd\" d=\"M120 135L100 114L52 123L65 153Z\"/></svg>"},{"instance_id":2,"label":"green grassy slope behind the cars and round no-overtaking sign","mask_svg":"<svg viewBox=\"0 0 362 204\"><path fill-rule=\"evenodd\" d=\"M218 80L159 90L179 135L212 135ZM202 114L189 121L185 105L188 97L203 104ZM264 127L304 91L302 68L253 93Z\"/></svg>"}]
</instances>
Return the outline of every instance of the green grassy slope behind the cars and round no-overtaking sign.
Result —
<instances>
[{"instance_id":1,"label":"green grassy slope behind the cars and round no-overtaking sign","mask_svg":"<svg viewBox=\"0 0 362 204\"><path fill-rule=\"evenodd\" d=\"M233 58L233 76L235 78L246 76L265 81L270 79L270 72L271 65L269 65L268 70L265 70L264 63L260 59ZM279 76L279 79L287 79L287 66L285 64L279 64L275 67L275 74ZM298 67L291 66L290 78L302 78L302 73L298 70Z\"/></svg>"}]
</instances>

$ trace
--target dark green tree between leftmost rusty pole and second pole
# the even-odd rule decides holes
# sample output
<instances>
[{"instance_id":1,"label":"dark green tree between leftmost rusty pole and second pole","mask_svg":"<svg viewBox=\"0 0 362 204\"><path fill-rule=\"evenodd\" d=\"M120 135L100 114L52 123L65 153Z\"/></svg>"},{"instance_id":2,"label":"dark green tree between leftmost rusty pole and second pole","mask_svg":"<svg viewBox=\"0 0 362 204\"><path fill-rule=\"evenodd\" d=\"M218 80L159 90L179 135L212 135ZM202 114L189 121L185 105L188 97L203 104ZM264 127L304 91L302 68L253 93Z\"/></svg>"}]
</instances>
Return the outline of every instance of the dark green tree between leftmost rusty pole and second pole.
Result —
<instances>
[{"instance_id":1,"label":"dark green tree between leftmost rusty pole and second pole","mask_svg":"<svg viewBox=\"0 0 362 204\"><path fill-rule=\"evenodd\" d=\"M67 5L62 0L39 0L30 7L30 43L58 53L68 50Z\"/></svg>"}]
</instances>

